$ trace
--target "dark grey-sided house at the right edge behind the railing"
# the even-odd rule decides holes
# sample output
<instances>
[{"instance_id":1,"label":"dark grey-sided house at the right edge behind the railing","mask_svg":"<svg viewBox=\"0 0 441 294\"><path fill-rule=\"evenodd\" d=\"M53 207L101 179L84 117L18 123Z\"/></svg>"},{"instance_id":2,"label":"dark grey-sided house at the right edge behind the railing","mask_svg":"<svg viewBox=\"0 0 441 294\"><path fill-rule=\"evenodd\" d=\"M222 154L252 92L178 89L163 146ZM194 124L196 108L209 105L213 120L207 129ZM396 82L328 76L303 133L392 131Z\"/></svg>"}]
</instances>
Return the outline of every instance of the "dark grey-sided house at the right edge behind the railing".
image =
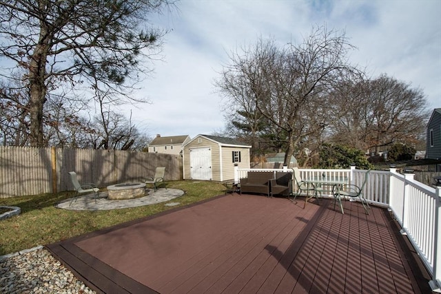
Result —
<instances>
[{"instance_id":1,"label":"dark grey-sided house at the right edge behind the railing","mask_svg":"<svg viewBox=\"0 0 441 294\"><path fill-rule=\"evenodd\" d=\"M441 159L441 108L433 109L427 123L426 158Z\"/></svg>"}]
</instances>

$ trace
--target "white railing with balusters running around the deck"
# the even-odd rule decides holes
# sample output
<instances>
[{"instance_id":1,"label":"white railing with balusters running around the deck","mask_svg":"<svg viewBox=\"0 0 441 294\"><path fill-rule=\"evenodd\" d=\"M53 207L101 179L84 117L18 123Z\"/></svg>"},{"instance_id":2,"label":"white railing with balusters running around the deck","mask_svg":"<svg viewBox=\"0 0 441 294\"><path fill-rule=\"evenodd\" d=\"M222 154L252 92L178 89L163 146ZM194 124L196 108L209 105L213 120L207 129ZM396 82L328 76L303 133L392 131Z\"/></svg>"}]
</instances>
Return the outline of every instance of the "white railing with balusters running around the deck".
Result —
<instances>
[{"instance_id":1,"label":"white railing with balusters running around the deck","mask_svg":"<svg viewBox=\"0 0 441 294\"><path fill-rule=\"evenodd\" d=\"M290 171L291 169L238 169L234 181L247 178L248 171ZM323 176L348 183L362 185L367 171L355 169L300 169L302 179ZM363 190L370 204L387 207L402 227L422 262L431 274L430 286L441 292L441 187L437 189L413 179L414 174L398 174L390 171L370 171ZM331 188L324 196L332 197Z\"/></svg>"}]
</instances>

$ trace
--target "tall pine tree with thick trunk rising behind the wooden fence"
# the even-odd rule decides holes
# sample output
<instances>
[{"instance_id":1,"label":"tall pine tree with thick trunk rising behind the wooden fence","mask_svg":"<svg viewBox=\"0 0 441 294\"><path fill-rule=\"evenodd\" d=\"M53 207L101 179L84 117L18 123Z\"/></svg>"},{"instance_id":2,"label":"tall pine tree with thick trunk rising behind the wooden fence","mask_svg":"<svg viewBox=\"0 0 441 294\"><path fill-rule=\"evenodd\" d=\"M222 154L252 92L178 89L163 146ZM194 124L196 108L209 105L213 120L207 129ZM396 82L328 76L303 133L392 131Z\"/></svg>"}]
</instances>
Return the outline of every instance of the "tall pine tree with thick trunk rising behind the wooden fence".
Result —
<instances>
[{"instance_id":1,"label":"tall pine tree with thick trunk rising behind the wooden fence","mask_svg":"<svg viewBox=\"0 0 441 294\"><path fill-rule=\"evenodd\" d=\"M43 146L43 109L60 85L92 88L121 103L148 72L140 63L161 48L165 32L147 16L167 0L0 1L0 74L25 81L30 145ZM144 60L145 61L145 60ZM25 74L17 75L18 70ZM112 95L108 93L112 92ZM86 99L87 97L84 97ZM145 101L141 99L141 101Z\"/></svg>"}]
</instances>

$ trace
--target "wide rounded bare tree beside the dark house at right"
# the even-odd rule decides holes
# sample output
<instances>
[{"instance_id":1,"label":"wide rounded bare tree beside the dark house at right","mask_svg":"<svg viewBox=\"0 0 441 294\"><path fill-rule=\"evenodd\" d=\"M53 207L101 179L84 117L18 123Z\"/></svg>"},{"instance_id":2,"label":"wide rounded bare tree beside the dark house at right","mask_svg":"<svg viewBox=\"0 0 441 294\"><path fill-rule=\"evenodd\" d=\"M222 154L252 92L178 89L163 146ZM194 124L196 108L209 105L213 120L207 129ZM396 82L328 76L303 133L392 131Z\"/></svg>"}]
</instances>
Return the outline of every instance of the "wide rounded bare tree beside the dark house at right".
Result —
<instances>
[{"instance_id":1,"label":"wide rounded bare tree beside the dark house at right","mask_svg":"<svg viewBox=\"0 0 441 294\"><path fill-rule=\"evenodd\" d=\"M334 93L334 141L376 154L393 143L418 143L429 117L422 90L385 74L346 89Z\"/></svg>"}]
</instances>

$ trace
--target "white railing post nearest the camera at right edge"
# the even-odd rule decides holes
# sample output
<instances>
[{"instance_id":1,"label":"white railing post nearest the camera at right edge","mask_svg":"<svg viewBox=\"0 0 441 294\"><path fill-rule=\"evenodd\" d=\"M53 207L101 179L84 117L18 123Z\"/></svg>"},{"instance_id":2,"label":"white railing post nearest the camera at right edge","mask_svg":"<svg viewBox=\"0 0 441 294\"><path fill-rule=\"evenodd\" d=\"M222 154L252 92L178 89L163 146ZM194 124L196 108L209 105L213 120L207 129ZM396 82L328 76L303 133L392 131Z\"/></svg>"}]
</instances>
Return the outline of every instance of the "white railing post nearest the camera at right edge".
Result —
<instances>
[{"instance_id":1,"label":"white railing post nearest the camera at right edge","mask_svg":"<svg viewBox=\"0 0 441 294\"><path fill-rule=\"evenodd\" d=\"M441 293L441 187L436 187L435 246L433 247L433 275L429 282L432 291Z\"/></svg>"}]
</instances>

